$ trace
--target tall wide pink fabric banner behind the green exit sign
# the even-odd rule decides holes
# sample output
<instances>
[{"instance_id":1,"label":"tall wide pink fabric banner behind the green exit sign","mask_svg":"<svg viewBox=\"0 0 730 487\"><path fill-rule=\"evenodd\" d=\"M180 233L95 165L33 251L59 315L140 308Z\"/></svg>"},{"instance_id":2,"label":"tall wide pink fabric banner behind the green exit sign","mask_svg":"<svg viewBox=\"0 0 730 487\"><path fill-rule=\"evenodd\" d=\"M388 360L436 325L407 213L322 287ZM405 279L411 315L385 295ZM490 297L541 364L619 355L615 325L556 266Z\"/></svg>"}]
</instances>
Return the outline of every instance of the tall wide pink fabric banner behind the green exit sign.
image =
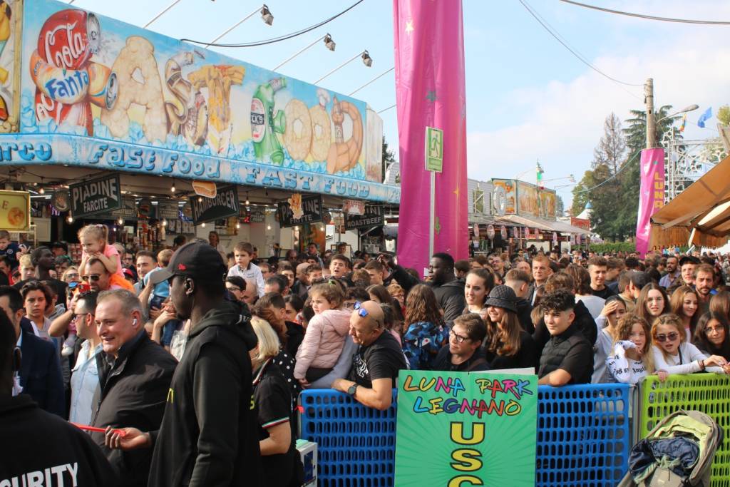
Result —
<instances>
[{"instance_id":1,"label":"tall wide pink fabric banner behind the green exit sign","mask_svg":"<svg viewBox=\"0 0 730 487\"><path fill-rule=\"evenodd\" d=\"M393 13L401 169L398 258L421 272L431 257L426 127L444 132L434 252L469 256L464 25L461 0L393 0Z\"/></svg>"}]
</instances>

